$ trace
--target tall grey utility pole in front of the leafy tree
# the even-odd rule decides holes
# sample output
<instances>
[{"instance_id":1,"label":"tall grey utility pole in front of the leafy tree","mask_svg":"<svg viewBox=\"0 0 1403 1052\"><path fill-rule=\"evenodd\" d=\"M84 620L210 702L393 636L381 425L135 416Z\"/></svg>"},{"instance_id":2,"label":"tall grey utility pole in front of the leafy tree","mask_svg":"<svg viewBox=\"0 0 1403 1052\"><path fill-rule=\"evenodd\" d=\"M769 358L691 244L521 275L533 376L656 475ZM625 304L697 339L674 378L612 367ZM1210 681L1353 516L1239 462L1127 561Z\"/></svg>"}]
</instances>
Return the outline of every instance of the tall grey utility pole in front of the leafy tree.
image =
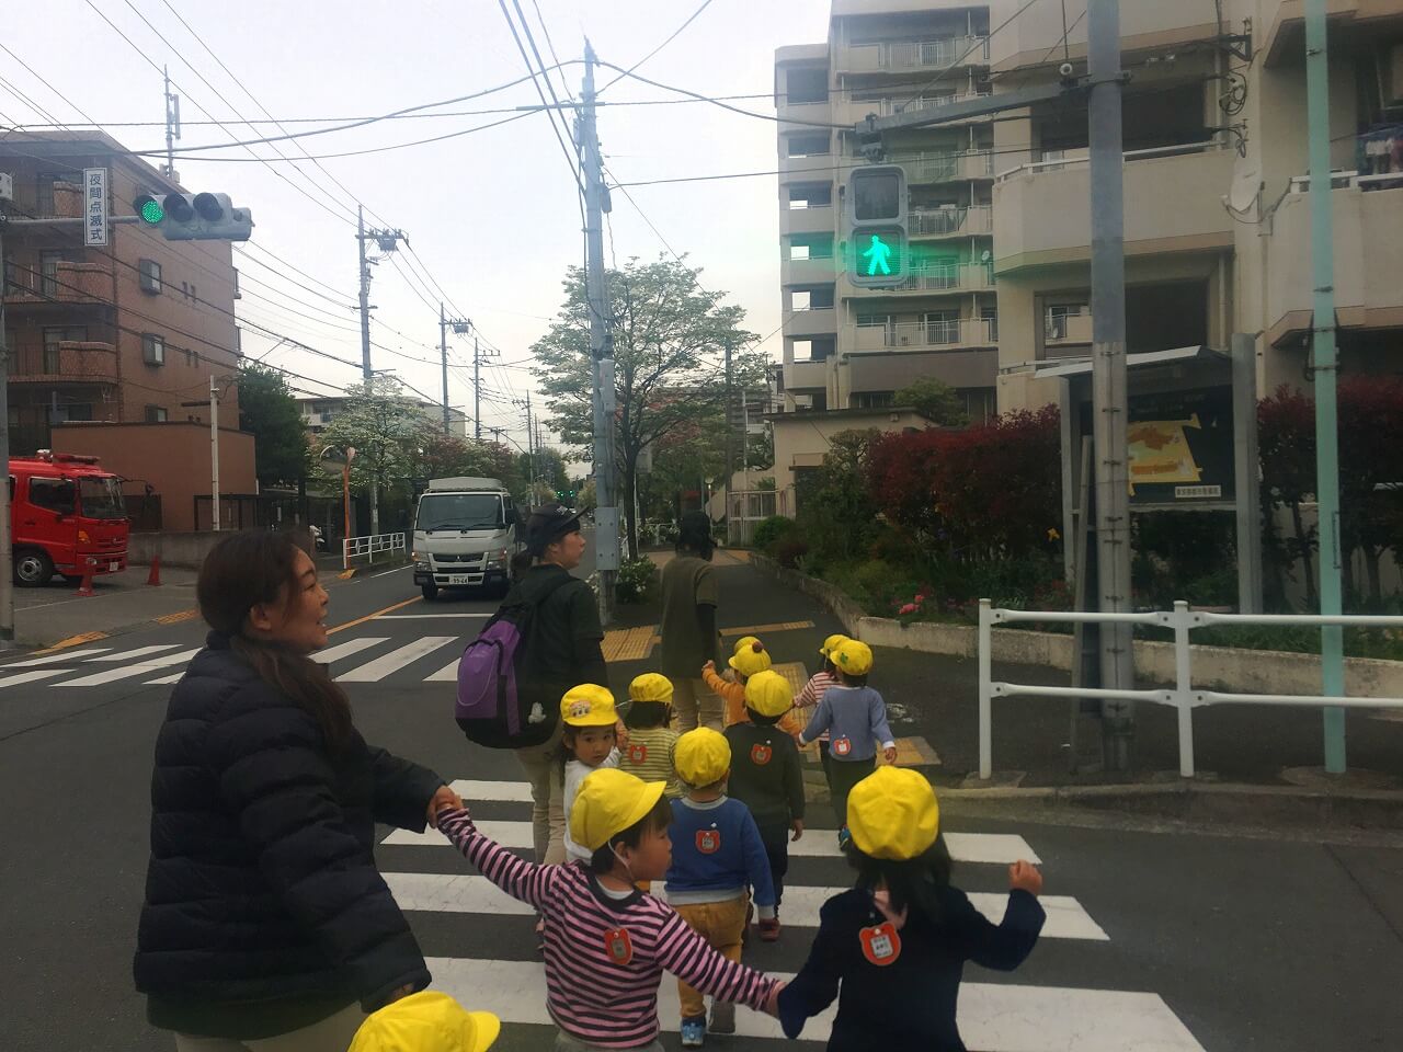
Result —
<instances>
[{"instance_id":1,"label":"tall grey utility pole in front of the leafy tree","mask_svg":"<svg viewBox=\"0 0 1403 1052\"><path fill-rule=\"evenodd\" d=\"M595 567L599 571L599 620L613 620L615 575L619 569L619 506L615 495L615 367L613 342L605 324L609 290L605 278L602 215L606 210L603 166L595 130L595 49L585 41L585 84L581 91L579 156L585 168L585 269L589 300L589 351L595 366Z\"/></svg>"}]
</instances>

